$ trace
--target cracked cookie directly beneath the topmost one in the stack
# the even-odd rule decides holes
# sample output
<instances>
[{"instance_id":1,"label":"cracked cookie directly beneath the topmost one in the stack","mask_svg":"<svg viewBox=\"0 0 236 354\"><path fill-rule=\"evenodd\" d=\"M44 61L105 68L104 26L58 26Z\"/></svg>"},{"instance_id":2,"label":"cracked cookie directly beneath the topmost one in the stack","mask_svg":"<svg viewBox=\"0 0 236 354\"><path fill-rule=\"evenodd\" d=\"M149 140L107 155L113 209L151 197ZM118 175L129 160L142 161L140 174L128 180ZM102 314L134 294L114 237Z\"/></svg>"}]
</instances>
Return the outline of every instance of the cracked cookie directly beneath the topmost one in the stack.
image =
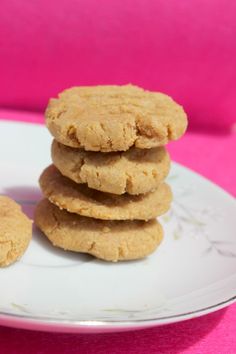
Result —
<instances>
[{"instance_id":1,"label":"cracked cookie directly beneath the topmost one in the stack","mask_svg":"<svg viewBox=\"0 0 236 354\"><path fill-rule=\"evenodd\" d=\"M157 188L170 169L164 147L100 153L71 148L54 140L51 155L64 176L114 194L148 193Z\"/></svg>"}]
</instances>

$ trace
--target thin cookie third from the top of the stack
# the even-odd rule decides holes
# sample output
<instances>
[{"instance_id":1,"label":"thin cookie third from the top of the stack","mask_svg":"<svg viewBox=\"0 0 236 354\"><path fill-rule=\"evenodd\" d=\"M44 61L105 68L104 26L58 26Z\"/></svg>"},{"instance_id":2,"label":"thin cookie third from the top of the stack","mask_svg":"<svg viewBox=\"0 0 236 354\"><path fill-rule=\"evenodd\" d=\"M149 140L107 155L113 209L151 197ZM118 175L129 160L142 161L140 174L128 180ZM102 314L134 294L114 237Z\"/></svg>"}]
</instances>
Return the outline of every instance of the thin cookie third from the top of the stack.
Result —
<instances>
[{"instance_id":1,"label":"thin cookie third from the top of the stack","mask_svg":"<svg viewBox=\"0 0 236 354\"><path fill-rule=\"evenodd\" d=\"M64 177L51 165L39 179L43 194L71 213L102 220L149 220L164 214L172 200L170 187L162 183L154 191L139 195L115 195L90 189Z\"/></svg>"}]
</instances>

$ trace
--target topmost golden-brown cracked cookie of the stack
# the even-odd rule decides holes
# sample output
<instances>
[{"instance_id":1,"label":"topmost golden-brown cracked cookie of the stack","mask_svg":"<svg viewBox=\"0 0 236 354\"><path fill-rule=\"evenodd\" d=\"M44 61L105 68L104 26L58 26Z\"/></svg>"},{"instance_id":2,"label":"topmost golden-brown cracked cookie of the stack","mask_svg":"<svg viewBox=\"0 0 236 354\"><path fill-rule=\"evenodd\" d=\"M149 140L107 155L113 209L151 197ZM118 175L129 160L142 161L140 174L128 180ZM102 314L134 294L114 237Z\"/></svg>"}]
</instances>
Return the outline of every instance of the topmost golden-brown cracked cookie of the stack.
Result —
<instances>
[{"instance_id":1,"label":"topmost golden-brown cracked cookie of the stack","mask_svg":"<svg viewBox=\"0 0 236 354\"><path fill-rule=\"evenodd\" d=\"M88 151L163 146L187 127L183 108L169 96L133 85L72 87L49 101L45 115L57 141Z\"/></svg>"}]
</instances>

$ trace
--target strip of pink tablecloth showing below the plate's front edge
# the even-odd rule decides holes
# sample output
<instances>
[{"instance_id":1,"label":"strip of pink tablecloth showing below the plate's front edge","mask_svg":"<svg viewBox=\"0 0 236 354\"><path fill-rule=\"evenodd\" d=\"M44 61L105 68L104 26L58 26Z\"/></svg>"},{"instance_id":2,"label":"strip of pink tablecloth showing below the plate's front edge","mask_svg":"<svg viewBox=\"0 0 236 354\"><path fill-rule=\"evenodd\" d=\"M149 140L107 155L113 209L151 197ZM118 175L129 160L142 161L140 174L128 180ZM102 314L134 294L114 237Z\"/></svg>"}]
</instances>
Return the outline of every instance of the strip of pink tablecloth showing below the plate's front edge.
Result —
<instances>
[{"instance_id":1,"label":"strip of pink tablecloth showing below the plate's front edge","mask_svg":"<svg viewBox=\"0 0 236 354\"><path fill-rule=\"evenodd\" d=\"M0 327L1 354L235 354L236 305L164 327L113 334L53 334Z\"/></svg>"}]
</instances>

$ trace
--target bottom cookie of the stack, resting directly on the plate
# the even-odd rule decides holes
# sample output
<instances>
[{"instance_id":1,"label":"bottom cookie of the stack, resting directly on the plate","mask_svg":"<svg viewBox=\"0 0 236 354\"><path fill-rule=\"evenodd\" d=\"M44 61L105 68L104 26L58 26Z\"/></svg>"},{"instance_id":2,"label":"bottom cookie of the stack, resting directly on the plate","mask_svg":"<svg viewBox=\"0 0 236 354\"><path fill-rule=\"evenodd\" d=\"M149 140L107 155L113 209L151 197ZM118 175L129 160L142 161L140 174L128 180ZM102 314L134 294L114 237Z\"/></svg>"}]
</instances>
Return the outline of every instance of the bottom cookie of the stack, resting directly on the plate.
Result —
<instances>
[{"instance_id":1,"label":"bottom cookie of the stack, resting directly on the plate","mask_svg":"<svg viewBox=\"0 0 236 354\"><path fill-rule=\"evenodd\" d=\"M146 257L163 238L156 220L97 220L60 210L47 199L36 207L35 223L54 246L113 262Z\"/></svg>"}]
</instances>

